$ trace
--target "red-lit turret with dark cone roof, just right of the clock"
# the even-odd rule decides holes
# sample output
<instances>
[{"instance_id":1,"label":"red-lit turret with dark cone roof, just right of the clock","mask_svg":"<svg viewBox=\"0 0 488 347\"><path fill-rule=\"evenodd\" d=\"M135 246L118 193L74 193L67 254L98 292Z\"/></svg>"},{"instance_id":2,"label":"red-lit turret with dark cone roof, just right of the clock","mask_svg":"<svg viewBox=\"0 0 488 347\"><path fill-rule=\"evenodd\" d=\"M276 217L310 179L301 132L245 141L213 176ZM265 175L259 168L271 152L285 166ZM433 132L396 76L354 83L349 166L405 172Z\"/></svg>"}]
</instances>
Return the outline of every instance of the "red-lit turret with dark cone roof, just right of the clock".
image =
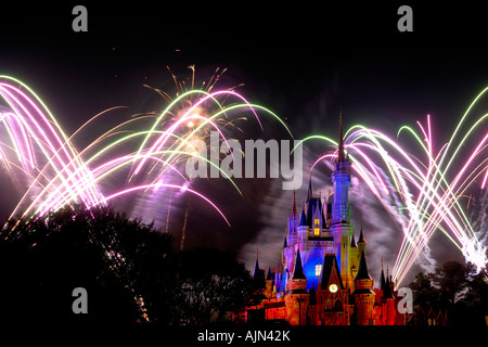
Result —
<instances>
[{"instance_id":1,"label":"red-lit turret with dark cone roof, just right of the clock","mask_svg":"<svg viewBox=\"0 0 488 347\"><path fill-rule=\"evenodd\" d=\"M373 308L375 294L372 291L373 279L368 271L364 252L361 254L358 275L355 279L355 292L352 293L357 314L356 323L358 325L374 325Z\"/></svg>"}]
</instances>

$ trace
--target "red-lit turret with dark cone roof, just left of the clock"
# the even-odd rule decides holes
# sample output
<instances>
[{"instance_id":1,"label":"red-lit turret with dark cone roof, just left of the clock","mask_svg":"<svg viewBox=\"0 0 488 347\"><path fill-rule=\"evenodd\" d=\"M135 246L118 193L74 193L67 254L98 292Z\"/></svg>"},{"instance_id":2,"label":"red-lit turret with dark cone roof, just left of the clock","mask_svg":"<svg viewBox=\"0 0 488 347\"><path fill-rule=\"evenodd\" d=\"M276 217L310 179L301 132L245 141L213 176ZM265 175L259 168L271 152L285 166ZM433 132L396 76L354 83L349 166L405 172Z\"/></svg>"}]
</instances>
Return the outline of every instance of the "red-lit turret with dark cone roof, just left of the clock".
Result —
<instances>
[{"instance_id":1,"label":"red-lit turret with dark cone roof, just left of the clock","mask_svg":"<svg viewBox=\"0 0 488 347\"><path fill-rule=\"evenodd\" d=\"M307 324L310 294L306 291L307 278L301 267L300 250L296 253L293 275L286 284L285 305L288 322L292 325Z\"/></svg>"}]
</instances>

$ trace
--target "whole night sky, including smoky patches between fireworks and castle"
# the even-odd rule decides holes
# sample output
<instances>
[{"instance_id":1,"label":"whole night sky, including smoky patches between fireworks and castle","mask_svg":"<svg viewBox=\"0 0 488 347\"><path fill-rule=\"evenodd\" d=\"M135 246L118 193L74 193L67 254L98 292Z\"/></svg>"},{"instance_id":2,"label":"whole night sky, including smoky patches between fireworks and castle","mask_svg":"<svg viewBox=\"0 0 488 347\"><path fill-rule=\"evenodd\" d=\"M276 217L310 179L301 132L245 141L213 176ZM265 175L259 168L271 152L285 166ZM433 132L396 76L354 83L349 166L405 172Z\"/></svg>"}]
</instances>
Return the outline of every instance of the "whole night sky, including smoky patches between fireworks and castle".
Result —
<instances>
[{"instance_id":1,"label":"whole night sky, including smoky patches between fireworks and castle","mask_svg":"<svg viewBox=\"0 0 488 347\"><path fill-rule=\"evenodd\" d=\"M143 85L172 92L166 66L188 78L187 66L194 64L200 80L208 79L216 67L227 67L218 86L245 83L237 91L285 118L297 139L311 133L335 138L342 107L346 127L360 123L391 134L431 114L439 141L446 141L473 98L488 86L486 18L466 2L407 3L413 9L413 33L397 30L397 9L403 3L396 1L320 7L89 2L85 3L88 33L72 30L76 4L7 9L2 4L0 21L0 73L30 86L67 133L112 106L129 107L113 117L160 108L160 100ZM277 124L267 127L262 138L277 134ZM307 152L308 158L319 154ZM324 177L313 177L318 189L328 184L330 172L322 171ZM8 192L0 203L3 218L18 193L1 181L0 189ZM297 192L299 203L306 183ZM261 267L272 267L283 243L292 193L270 179L243 179L237 184L242 197L221 182L198 187L211 192L233 227L229 230L210 209L195 203L189 207L187 242L236 252L249 269L259 245ZM370 202L364 198L364 204ZM359 219L368 217L363 206L354 208L358 230ZM171 217L169 229L177 240L182 216L177 208ZM382 227L373 223L370 219L364 226L367 240L385 237L374 231ZM401 235L388 237L371 240L371 247L377 248L372 248L369 260L374 279L381 256L390 268L394 265ZM437 260L461 259L441 236L433 242Z\"/></svg>"}]
</instances>

